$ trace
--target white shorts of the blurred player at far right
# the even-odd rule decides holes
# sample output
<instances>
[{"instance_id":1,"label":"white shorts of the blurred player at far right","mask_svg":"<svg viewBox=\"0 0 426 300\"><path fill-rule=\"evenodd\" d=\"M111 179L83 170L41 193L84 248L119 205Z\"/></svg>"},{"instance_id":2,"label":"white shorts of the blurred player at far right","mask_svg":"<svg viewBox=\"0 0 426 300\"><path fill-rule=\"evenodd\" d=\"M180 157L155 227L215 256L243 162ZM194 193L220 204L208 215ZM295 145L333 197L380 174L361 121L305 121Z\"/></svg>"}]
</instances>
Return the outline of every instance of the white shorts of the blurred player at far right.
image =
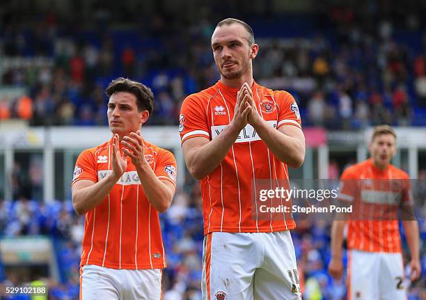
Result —
<instances>
[{"instance_id":1,"label":"white shorts of the blurred player at far right","mask_svg":"<svg viewBox=\"0 0 426 300\"><path fill-rule=\"evenodd\" d=\"M401 253L349 251L349 300L404 300Z\"/></svg>"}]
</instances>

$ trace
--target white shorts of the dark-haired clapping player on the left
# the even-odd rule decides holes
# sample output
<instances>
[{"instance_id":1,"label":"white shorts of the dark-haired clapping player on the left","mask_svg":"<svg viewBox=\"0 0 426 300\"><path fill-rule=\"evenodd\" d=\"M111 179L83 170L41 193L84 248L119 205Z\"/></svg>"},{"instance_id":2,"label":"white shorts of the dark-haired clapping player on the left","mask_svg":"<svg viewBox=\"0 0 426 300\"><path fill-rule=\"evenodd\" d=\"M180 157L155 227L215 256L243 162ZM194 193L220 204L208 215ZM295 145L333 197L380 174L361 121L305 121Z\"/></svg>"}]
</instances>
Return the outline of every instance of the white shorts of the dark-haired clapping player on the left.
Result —
<instances>
[{"instance_id":1,"label":"white shorts of the dark-haired clapping player on the left","mask_svg":"<svg viewBox=\"0 0 426 300\"><path fill-rule=\"evenodd\" d=\"M160 300L161 269L109 269L86 265L81 271L82 300Z\"/></svg>"}]
</instances>

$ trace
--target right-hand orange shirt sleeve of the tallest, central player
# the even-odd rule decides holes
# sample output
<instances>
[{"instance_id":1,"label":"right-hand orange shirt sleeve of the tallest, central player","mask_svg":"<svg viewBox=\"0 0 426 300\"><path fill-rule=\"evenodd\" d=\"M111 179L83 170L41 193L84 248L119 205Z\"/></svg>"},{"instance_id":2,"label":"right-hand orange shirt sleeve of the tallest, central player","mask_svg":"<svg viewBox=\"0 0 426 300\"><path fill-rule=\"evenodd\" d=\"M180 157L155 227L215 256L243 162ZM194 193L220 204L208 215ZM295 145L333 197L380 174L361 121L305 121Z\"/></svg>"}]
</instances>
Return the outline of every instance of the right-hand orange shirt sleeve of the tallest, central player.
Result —
<instances>
[{"instance_id":1,"label":"right-hand orange shirt sleeve of the tallest, central player","mask_svg":"<svg viewBox=\"0 0 426 300\"><path fill-rule=\"evenodd\" d=\"M278 100L277 129L283 125L292 125L301 128L299 106L297 106L294 97L284 90L278 90L275 93L275 98Z\"/></svg>"}]
</instances>

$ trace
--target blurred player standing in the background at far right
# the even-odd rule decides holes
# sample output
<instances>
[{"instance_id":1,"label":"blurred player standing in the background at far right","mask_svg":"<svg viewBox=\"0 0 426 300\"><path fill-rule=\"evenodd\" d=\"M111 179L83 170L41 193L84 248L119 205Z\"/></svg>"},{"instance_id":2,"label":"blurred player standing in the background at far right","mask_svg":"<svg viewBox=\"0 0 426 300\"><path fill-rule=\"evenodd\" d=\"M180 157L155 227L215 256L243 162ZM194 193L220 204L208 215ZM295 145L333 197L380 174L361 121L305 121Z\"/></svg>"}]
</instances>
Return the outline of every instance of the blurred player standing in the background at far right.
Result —
<instances>
[{"instance_id":1,"label":"blurred player standing in the background at far right","mask_svg":"<svg viewBox=\"0 0 426 300\"><path fill-rule=\"evenodd\" d=\"M376 202L378 198L393 196L386 190L386 182L402 179L408 182L409 175L390 164L396 152L396 134L387 125L374 128L370 142L371 158L347 168L341 177L340 199L362 205ZM367 187L368 184L368 187ZM362 185L363 187L359 187ZM383 187L381 187L383 186ZM392 188L392 187L390 187ZM361 197L362 195L362 197ZM399 207L411 206L409 187L402 189ZM379 203L371 208L379 210ZM395 205L396 206L396 205ZM397 210L398 207L395 207ZM362 220L361 220L362 219ZM331 228L332 258L329 273L333 278L342 277L342 243L345 223L348 225L348 299L407 299L404 287L404 265L400 230L397 219L334 221ZM402 221L411 252L411 281L420 276L418 222Z\"/></svg>"}]
</instances>

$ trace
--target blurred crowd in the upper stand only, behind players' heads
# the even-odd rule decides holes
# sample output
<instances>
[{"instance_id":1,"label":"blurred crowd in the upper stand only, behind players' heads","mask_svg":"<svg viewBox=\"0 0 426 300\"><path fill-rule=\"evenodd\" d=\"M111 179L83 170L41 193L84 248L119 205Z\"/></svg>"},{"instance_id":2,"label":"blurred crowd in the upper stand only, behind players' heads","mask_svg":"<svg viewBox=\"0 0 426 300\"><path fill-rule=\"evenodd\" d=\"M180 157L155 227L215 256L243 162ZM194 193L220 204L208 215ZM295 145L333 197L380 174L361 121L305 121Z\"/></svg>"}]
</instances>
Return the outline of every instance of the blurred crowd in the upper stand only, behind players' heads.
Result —
<instances>
[{"instance_id":1,"label":"blurred crowd in the upper stand only, behind players' heads","mask_svg":"<svg viewBox=\"0 0 426 300\"><path fill-rule=\"evenodd\" d=\"M379 17L374 24L353 8L330 9L321 22L310 15L287 22L248 18L260 44L255 80L290 91L306 126L425 125L422 9L400 17L379 5L369 9ZM119 20L122 26L99 8L91 22L72 25L54 10L14 13L0 22L0 83L23 92L1 93L0 120L106 125L104 88L125 76L154 91L150 125L177 125L184 97L219 79L210 36L220 17L209 10L194 22L155 14L143 22Z\"/></svg>"}]
</instances>

